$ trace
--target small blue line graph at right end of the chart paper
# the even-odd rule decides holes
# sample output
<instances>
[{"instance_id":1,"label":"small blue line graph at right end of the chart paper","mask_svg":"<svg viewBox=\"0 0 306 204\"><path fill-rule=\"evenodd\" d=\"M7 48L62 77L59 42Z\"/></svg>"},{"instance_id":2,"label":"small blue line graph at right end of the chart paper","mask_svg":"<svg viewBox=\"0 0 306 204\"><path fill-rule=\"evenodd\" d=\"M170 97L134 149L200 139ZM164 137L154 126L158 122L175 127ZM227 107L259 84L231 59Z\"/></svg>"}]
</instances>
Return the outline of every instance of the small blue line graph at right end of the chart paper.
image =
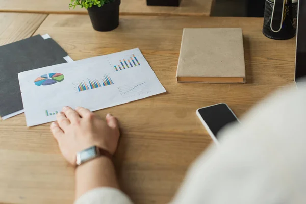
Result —
<instances>
[{"instance_id":1,"label":"small blue line graph at right end of the chart paper","mask_svg":"<svg viewBox=\"0 0 306 204\"><path fill-rule=\"evenodd\" d=\"M137 84L131 84L127 86L118 87L118 90L123 98L132 97L139 94L149 93L150 89L146 82L140 82Z\"/></svg>"}]
</instances>

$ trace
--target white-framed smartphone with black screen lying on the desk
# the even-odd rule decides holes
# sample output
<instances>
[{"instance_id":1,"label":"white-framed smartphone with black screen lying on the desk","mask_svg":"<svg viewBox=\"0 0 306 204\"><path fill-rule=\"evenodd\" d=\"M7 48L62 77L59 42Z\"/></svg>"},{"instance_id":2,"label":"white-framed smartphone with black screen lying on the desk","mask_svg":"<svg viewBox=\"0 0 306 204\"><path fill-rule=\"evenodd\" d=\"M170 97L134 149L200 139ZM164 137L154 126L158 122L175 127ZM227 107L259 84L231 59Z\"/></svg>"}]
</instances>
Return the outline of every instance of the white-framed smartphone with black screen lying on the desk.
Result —
<instances>
[{"instance_id":1,"label":"white-framed smartphone with black screen lying on the desk","mask_svg":"<svg viewBox=\"0 0 306 204\"><path fill-rule=\"evenodd\" d=\"M196 115L216 143L218 143L218 132L222 127L232 122L240 122L225 103L199 108L196 110Z\"/></svg>"}]
</instances>

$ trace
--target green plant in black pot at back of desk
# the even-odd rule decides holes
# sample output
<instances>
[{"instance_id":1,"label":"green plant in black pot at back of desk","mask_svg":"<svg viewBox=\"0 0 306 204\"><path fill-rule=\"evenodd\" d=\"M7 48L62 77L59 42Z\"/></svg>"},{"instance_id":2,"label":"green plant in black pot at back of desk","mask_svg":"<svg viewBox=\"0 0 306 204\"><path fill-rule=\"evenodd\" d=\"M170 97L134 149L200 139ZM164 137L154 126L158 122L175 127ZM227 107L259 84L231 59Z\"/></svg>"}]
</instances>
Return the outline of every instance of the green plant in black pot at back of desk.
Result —
<instances>
[{"instance_id":1,"label":"green plant in black pot at back of desk","mask_svg":"<svg viewBox=\"0 0 306 204\"><path fill-rule=\"evenodd\" d=\"M119 25L120 0L71 0L69 8L86 8L97 31L111 31Z\"/></svg>"}]
</instances>

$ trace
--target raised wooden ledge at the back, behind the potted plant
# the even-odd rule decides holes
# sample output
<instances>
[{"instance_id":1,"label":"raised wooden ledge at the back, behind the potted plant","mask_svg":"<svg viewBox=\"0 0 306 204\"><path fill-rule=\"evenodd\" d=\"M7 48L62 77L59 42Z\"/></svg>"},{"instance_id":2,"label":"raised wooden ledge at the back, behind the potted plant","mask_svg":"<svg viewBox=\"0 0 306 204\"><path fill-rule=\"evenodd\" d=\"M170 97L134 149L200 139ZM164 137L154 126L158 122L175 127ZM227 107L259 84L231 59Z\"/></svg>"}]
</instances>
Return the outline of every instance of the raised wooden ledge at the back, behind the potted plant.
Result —
<instances>
[{"instance_id":1,"label":"raised wooden ledge at the back, behind the potted plant","mask_svg":"<svg viewBox=\"0 0 306 204\"><path fill-rule=\"evenodd\" d=\"M0 12L87 14L86 9L69 9L70 0L0 0ZM147 6L146 0L121 0L121 15L209 16L213 0L182 0L180 7Z\"/></svg>"}]
</instances>

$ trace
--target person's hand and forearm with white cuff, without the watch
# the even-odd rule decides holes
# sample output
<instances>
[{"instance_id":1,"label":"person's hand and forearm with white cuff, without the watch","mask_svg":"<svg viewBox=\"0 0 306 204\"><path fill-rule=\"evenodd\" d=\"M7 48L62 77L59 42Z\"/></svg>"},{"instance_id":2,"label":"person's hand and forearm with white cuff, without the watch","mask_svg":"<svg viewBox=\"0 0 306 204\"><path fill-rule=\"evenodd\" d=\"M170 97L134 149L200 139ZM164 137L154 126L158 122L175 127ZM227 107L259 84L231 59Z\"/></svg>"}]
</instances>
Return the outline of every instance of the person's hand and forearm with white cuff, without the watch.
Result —
<instances>
[{"instance_id":1,"label":"person's hand and forearm with white cuff, without the watch","mask_svg":"<svg viewBox=\"0 0 306 204\"><path fill-rule=\"evenodd\" d=\"M77 152L98 146L113 155L117 149L119 126L115 117L108 114L106 121L85 108L73 110L64 107L57 114L51 131L58 141L65 159L73 166ZM75 169L76 203L131 203L121 191L115 168L110 158L101 156L81 164Z\"/></svg>"}]
</instances>

